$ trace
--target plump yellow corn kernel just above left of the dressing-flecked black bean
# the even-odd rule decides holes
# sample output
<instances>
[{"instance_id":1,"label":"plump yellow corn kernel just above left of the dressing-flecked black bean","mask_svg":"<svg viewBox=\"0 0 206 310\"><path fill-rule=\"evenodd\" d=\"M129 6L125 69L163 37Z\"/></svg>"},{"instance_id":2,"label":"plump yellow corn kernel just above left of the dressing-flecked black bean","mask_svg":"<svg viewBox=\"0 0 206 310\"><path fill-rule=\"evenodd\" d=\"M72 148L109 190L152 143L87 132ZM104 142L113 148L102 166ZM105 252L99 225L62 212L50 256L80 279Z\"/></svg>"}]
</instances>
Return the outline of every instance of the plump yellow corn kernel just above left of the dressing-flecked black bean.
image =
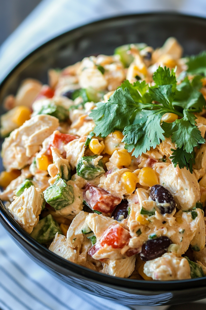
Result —
<instances>
[{"instance_id":1,"label":"plump yellow corn kernel just above left of the dressing-flecked black bean","mask_svg":"<svg viewBox=\"0 0 206 310\"><path fill-rule=\"evenodd\" d=\"M152 187L155 184L159 184L158 175L152 168L144 167L138 175L138 183L143 186Z\"/></svg>"}]
</instances>

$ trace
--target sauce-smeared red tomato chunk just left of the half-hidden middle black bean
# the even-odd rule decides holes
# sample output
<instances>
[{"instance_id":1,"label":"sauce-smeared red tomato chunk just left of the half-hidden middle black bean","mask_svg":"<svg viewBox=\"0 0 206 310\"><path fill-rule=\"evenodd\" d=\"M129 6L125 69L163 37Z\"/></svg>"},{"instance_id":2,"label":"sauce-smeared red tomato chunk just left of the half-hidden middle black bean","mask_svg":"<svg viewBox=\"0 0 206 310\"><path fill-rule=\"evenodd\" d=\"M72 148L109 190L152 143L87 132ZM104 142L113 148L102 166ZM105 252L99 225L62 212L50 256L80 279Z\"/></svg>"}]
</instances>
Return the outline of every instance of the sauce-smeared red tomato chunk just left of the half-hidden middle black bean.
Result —
<instances>
[{"instance_id":1,"label":"sauce-smeared red tomato chunk just left of the half-hidden middle black bean","mask_svg":"<svg viewBox=\"0 0 206 310\"><path fill-rule=\"evenodd\" d=\"M115 197L102 188L87 184L84 190L84 199L93 209L102 213L111 213L112 210L121 202L121 198Z\"/></svg>"}]
</instances>

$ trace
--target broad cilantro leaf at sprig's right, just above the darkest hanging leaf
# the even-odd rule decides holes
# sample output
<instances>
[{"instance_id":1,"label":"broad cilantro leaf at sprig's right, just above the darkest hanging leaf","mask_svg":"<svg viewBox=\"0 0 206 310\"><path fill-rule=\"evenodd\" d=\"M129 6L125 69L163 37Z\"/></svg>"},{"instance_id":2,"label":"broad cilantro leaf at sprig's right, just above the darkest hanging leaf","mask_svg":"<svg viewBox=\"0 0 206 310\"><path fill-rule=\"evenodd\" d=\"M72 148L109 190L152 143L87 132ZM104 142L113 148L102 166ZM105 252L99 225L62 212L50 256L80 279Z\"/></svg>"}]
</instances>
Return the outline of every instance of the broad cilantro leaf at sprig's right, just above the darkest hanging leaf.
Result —
<instances>
[{"instance_id":1,"label":"broad cilantro leaf at sprig's right, just above the darkest hanging leaf","mask_svg":"<svg viewBox=\"0 0 206 310\"><path fill-rule=\"evenodd\" d=\"M166 137L171 136L172 142L177 145L177 148L183 147L183 150L191 153L195 146L205 143L205 140L195 125L195 115L189 113L187 110L183 110L183 114L183 118L177 119L173 123L163 122L162 129Z\"/></svg>"}]
</instances>

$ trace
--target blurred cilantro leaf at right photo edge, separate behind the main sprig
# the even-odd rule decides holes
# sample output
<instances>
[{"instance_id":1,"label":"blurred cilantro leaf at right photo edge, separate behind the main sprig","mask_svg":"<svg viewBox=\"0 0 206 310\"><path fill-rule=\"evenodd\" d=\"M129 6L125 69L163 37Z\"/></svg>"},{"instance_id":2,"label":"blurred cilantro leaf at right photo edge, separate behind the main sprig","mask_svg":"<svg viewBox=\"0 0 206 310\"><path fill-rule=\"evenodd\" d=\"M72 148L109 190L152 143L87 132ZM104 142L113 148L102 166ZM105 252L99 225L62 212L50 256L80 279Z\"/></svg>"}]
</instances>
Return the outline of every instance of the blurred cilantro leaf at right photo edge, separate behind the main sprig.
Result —
<instances>
[{"instance_id":1,"label":"blurred cilantro leaf at right photo edge, separate behind the main sprig","mask_svg":"<svg viewBox=\"0 0 206 310\"><path fill-rule=\"evenodd\" d=\"M206 76L206 51L200 54L188 58L187 62L187 72L191 74L203 73Z\"/></svg>"}]
</instances>

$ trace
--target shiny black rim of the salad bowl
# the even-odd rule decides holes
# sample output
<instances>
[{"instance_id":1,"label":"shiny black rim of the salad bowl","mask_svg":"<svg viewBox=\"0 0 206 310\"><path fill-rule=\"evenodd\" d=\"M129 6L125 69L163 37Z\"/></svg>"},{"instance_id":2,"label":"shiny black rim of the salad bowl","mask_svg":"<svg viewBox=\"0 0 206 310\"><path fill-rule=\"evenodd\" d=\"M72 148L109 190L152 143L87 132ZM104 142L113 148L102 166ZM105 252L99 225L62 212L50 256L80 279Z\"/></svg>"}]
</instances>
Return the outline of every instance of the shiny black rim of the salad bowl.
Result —
<instances>
[{"instance_id":1,"label":"shiny black rim of the salad bowl","mask_svg":"<svg viewBox=\"0 0 206 310\"><path fill-rule=\"evenodd\" d=\"M186 20L193 19L194 21L204 22L206 24L206 18L204 17L198 17L194 15L187 15L187 14L181 14L177 12L146 12L146 13L138 13L138 14L123 14L123 15L117 15L112 16L109 18L104 18L100 20L93 21L91 23L83 24L77 28L71 29L69 31L65 31L64 33L61 33L60 35L55 36L52 39L49 39L48 41L44 42L40 46L36 47L32 52L30 52L28 55L26 55L22 60L16 64L13 69L10 70L10 72L3 78L3 80L0 83L0 91L5 85L5 83L8 81L8 79L15 73L15 71L30 57L35 55L38 51L44 49L44 47L49 46L50 44L54 43L55 41L60 40L61 38L64 38L68 34L72 34L77 32L78 30L86 29L88 26L95 26L95 25L101 25L106 24L107 22L111 21L118 21L118 20L126 20L128 18L141 18L141 17L176 17L176 18L184 18ZM151 285L155 284L154 289L149 289L150 291L157 292L157 291L171 291L170 288L166 289L164 286L170 286L170 285L178 285L181 287L183 285L183 288L186 289L187 286L184 286L188 283L193 283L194 286L189 286L188 288L193 287L202 287L206 286L206 276L201 278L195 278L195 279L186 279L186 280L173 280L173 281L146 281L146 280L136 280L136 279L129 279L129 278L120 278L120 277L113 277L107 274L103 274L94 270L91 270L89 268L86 268L84 266L78 265L76 263L72 263L61 256L53 253L52 251L48 250L46 247L42 246L40 243L38 243L35 239L33 239L27 232L25 232L19 224L14 220L12 215L9 213L9 211L6 209L6 207L3 205L2 201L0 200L0 222L3 224L4 228L7 231L12 231L12 236L17 240L18 237L20 237L24 242L27 243L27 245L34 250L37 250L40 255L43 255L48 260L53 261L57 265L61 265L63 268L69 270L70 272L75 273L78 276L82 276L82 278L86 278L88 281L95 281L99 282L100 284L104 284L106 286L111 286L113 284L114 286L118 286L118 288L133 288L137 289L138 291L141 290L142 284L145 285ZM10 232L11 234L11 232ZM23 246L24 247L24 246ZM25 248L25 247L24 247ZM86 276L85 276L86 274ZM136 284L136 285L135 285ZM144 285L144 286L145 286ZM143 288L143 287L142 287ZM182 290L182 289L181 289ZM144 290L145 291L145 290ZM148 290L147 290L148 291Z\"/></svg>"}]
</instances>

